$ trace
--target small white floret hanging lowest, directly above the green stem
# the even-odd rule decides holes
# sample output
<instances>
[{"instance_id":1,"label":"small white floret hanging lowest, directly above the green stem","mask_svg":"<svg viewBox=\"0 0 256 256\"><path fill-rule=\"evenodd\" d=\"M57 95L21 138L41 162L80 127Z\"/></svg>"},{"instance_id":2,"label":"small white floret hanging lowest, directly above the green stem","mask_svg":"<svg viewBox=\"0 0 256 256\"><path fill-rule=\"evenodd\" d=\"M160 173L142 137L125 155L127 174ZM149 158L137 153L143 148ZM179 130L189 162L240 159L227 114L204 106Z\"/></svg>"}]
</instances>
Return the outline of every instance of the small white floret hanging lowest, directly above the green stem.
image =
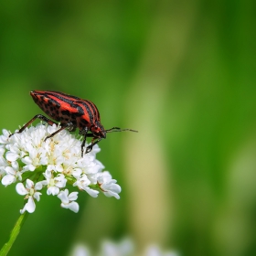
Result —
<instances>
[{"instance_id":1,"label":"small white floret hanging lowest, directly above the green stem","mask_svg":"<svg viewBox=\"0 0 256 256\"><path fill-rule=\"evenodd\" d=\"M23 183L18 183L16 185L16 192L22 196L26 195L25 199L28 199L25 207L20 210L21 214L23 214L26 210L29 213L32 213L35 211L36 204L34 202L34 198L37 199L37 201L40 200L40 195L42 195L42 194L40 192L37 192L37 190L41 190L41 189L42 189L41 184L37 183L34 186L34 182L28 178L26 181L26 187L24 187Z\"/></svg>"}]
</instances>

